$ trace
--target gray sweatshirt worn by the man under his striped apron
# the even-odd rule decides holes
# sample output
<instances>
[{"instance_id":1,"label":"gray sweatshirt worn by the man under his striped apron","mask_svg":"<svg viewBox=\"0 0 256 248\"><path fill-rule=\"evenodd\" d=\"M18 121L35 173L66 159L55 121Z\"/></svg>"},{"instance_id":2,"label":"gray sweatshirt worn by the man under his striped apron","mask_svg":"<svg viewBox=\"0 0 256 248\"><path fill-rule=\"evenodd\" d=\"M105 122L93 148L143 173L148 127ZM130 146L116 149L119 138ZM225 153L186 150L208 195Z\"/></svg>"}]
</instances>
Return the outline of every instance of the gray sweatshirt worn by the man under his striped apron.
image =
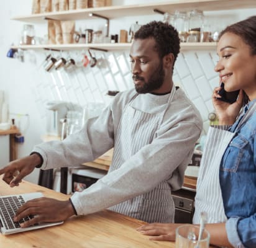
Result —
<instances>
[{"instance_id":1,"label":"gray sweatshirt worn by the man under his striped apron","mask_svg":"<svg viewBox=\"0 0 256 248\"><path fill-rule=\"evenodd\" d=\"M78 166L114 147L122 112L134 94L134 89L117 94L98 118L89 119L80 131L63 141L35 146L34 151L43 157L41 169ZM202 130L202 120L181 89L176 90L167 107L169 95L139 94L135 98L132 107L143 112L159 113L167 108L156 138L119 169L109 172L83 192L74 193L71 201L78 215L104 210L149 192L163 180L172 190L182 186L186 166Z\"/></svg>"}]
</instances>

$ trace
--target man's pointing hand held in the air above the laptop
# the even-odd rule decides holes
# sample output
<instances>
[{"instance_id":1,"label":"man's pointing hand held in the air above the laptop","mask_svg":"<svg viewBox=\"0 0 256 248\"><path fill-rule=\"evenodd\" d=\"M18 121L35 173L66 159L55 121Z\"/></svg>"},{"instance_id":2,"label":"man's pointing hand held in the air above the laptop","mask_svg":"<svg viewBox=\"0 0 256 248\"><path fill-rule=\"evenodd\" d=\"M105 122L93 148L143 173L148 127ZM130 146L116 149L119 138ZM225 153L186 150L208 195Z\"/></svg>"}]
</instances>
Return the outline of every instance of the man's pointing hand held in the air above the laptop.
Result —
<instances>
[{"instance_id":1,"label":"man's pointing hand held in the air above the laptop","mask_svg":"<svg viewBox=\"0 0 256 248\"><path fill-rule=\"evenodd\" d=\"M10 162L6 167L0 169L0 175L4 174L2 180L11 187L19 186L21 180L29 175L38 164L40 164L39 155L32 154Z\"/></svg>"}]
</instances>

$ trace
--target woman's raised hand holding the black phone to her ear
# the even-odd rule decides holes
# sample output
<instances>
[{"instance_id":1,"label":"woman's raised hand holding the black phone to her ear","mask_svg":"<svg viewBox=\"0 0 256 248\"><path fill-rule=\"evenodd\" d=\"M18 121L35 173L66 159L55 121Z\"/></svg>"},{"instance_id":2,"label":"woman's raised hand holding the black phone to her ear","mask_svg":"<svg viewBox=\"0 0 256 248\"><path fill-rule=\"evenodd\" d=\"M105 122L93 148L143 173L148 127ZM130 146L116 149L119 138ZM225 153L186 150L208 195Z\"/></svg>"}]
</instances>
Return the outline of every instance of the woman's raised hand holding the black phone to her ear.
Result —
<instances>
[{"instance_id":1,"label":"woman's raised hand holding the black phone to her ear","mask_svg":"<svg viewBox=\"0 0 256 248\"><path fill-rule=\"evenodd\" d=\"M217 99L221 97L218 94L220 90L221 87L216 87L213 91L213 105L219 118L219 125L233 125L243 104L243 91L240 90L238 99L233 104L229 104Z\"/></svg>"}]
</instances>

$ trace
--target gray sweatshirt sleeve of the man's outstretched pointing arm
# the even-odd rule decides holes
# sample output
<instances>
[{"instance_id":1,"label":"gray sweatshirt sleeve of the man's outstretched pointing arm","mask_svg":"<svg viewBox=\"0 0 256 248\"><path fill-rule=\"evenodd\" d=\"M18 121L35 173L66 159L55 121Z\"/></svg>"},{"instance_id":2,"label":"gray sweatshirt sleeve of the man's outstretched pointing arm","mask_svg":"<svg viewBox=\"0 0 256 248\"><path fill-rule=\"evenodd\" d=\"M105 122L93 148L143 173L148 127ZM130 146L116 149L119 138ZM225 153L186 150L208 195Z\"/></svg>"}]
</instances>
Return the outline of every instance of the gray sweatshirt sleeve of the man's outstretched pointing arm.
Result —
<instances>
[{"instance_id":1,"label":"gray sweatshirt sleeve of the man's outstretched pointing arm","mask_svg":"<svg viewBox=\"0 0 256 248\"><path fill-rule=\"evenodd\" d=\"M41 154L41 169L77 166L93 161L114 146L112 112L109 107L99 117L91 118L80 131L63 141L49 141L34 147Z\"/></svg>"}]
</instances>

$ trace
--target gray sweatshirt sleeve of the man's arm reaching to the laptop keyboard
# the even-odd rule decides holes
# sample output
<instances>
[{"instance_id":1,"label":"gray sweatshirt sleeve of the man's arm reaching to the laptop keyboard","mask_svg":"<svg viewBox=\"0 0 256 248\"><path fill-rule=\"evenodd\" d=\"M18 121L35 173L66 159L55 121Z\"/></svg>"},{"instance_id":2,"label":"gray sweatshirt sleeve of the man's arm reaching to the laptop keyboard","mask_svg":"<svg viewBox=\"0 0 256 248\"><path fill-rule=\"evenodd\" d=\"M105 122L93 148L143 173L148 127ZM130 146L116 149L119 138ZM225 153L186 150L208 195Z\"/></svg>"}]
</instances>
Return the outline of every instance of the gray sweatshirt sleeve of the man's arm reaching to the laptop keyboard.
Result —
<instances>
[{"instance_id":1,"label":"gray sweatshirt sleeve of the man's arm reaching to the laptop keyboard","mask_svg":"<svg viewBox=\"0 0 256 248\"><path fill-rule=\"evenodd\" d=\"M167 126L165 126L167 128ZM71 201L78 215L87 215L149 192L163 180L175 179L181 187L186 166L193 154L201 129L190 122L177 122L153 139L119 169L109 172Z\"/></svg>"}]
</instances>

